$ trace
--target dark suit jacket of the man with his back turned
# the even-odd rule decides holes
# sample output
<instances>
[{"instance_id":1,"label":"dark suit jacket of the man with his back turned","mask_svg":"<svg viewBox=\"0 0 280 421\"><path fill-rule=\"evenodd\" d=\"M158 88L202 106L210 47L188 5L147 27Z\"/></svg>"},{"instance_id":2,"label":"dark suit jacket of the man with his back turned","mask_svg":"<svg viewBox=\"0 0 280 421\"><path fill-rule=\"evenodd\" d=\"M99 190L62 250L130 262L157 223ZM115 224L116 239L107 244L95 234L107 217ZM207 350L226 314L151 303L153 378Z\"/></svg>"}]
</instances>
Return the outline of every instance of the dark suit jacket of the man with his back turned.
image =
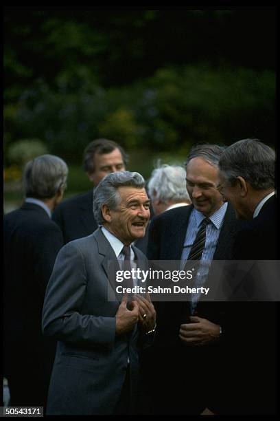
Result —
<instances>
[{"instance_id":1,"label":"dark suit jacket of the man with his back turned","mask_svg":"<svg viewBox=\"0 0 280 421\"><path fill-rule=\"evenodd\" d=\"M5 375L13 384L25 376L31 400L36 393L40 406L47 396L39 390L47 394L41 383L49 381L56 347L41 332L42 308L62 234L43 208L30 203L5 215L3 228Z\"/></svg>"}]
</instances>

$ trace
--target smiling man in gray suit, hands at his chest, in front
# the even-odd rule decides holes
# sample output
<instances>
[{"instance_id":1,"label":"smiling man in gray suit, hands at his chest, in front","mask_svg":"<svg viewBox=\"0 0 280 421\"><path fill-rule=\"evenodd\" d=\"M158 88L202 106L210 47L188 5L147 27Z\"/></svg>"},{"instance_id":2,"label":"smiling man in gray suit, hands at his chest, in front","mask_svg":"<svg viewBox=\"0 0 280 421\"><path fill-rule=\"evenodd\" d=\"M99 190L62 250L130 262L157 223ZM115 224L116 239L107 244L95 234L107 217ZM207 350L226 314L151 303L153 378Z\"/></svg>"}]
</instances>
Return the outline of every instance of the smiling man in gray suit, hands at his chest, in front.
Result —
<instances>
[{"instance_id":1,"label":"smiling man in gray suit, hands at his chest, in front","mask_svg":"<svg viewBox=\"0 0 280 421\"><path fill-rule=\"evenodd\" d=\"M110 261L147 264L131 246L145 235L150 217L143 177L129 171L107 175L93 203L101 227L60 250L45 296L43 332L58 339L47 406L52 415L133 413L138 341L151 341L155 329L148 298L137 297L130 306L126 297L108 301Z\"/></svg>"}]
</instances>

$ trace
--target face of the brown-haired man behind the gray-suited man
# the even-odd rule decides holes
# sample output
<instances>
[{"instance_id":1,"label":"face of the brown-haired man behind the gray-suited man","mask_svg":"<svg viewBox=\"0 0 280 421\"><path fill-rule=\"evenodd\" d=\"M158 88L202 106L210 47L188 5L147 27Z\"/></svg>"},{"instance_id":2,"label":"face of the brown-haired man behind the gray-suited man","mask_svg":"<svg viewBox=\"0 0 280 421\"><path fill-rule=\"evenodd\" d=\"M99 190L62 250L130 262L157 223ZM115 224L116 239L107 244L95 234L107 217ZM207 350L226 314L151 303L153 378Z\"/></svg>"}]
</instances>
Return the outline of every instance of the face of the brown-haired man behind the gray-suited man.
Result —
<instances>
[{"instance_id":1,"label":"face of the brown-haired man behind the gray-suited man","mask_svg":"<svg viewBox=\"0 0 280 421\"><path fill-rule=\"evenodd\" d=\"M114 149L109 153L95 153L94 155L94 167L93 173L88 173L89 180L93 182L94 186L110 173L117 173L118 171L124 171L124 160L119 149Z\"/></svg>"}]
</instances>

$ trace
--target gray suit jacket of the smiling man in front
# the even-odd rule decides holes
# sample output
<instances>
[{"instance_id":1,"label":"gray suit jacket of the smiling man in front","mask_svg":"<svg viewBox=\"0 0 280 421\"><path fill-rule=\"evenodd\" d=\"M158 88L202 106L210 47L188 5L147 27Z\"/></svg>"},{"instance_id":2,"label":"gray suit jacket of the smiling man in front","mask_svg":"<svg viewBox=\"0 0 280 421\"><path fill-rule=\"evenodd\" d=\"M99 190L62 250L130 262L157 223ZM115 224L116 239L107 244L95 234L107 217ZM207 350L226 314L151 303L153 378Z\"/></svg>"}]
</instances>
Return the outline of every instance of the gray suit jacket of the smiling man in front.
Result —
<instances>
[{"instance_id":1,"label":"gray suit jacket of the smiling man in front","mask_svg":"<svg viewBox=\"0 0 280 421\"><path fill-rule=\"evenodd\" d=\"M133 248L140 266L143 253ZM128 357L132 397L138 382L137 327L115 336L119 301L108 301L108 261L115 252L102 230L59 252L47 286L43 332L58 339L48 414L110 414L121 393Z\"/></svg>"}]
</instances>

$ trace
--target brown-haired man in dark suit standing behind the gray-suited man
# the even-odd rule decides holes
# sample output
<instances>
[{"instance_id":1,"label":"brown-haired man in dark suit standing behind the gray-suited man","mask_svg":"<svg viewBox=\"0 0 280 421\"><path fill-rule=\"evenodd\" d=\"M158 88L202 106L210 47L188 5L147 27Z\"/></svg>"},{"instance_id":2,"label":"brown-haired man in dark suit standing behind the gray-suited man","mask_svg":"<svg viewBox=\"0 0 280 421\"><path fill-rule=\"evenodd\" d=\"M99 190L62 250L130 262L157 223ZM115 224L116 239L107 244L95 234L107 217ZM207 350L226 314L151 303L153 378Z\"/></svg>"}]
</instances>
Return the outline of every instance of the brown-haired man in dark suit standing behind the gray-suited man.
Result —
<instances>
[{"instance_id":1,"label":"brown-haired man in dark suit standing behind the gray-suited man","mask_svg":"<svg viewBox=\"0 0 280 421\"><path fill-rule=\"evenodd\" d=\"M93 186L109 173L124 171L127 162L128 155L113 140L93 140L84 150L84 170ZM54 210L53 219L62 230L65 244L92 234L97 228L93 215L93 189L63 201Z\"/></svg>"}]
</instances>

